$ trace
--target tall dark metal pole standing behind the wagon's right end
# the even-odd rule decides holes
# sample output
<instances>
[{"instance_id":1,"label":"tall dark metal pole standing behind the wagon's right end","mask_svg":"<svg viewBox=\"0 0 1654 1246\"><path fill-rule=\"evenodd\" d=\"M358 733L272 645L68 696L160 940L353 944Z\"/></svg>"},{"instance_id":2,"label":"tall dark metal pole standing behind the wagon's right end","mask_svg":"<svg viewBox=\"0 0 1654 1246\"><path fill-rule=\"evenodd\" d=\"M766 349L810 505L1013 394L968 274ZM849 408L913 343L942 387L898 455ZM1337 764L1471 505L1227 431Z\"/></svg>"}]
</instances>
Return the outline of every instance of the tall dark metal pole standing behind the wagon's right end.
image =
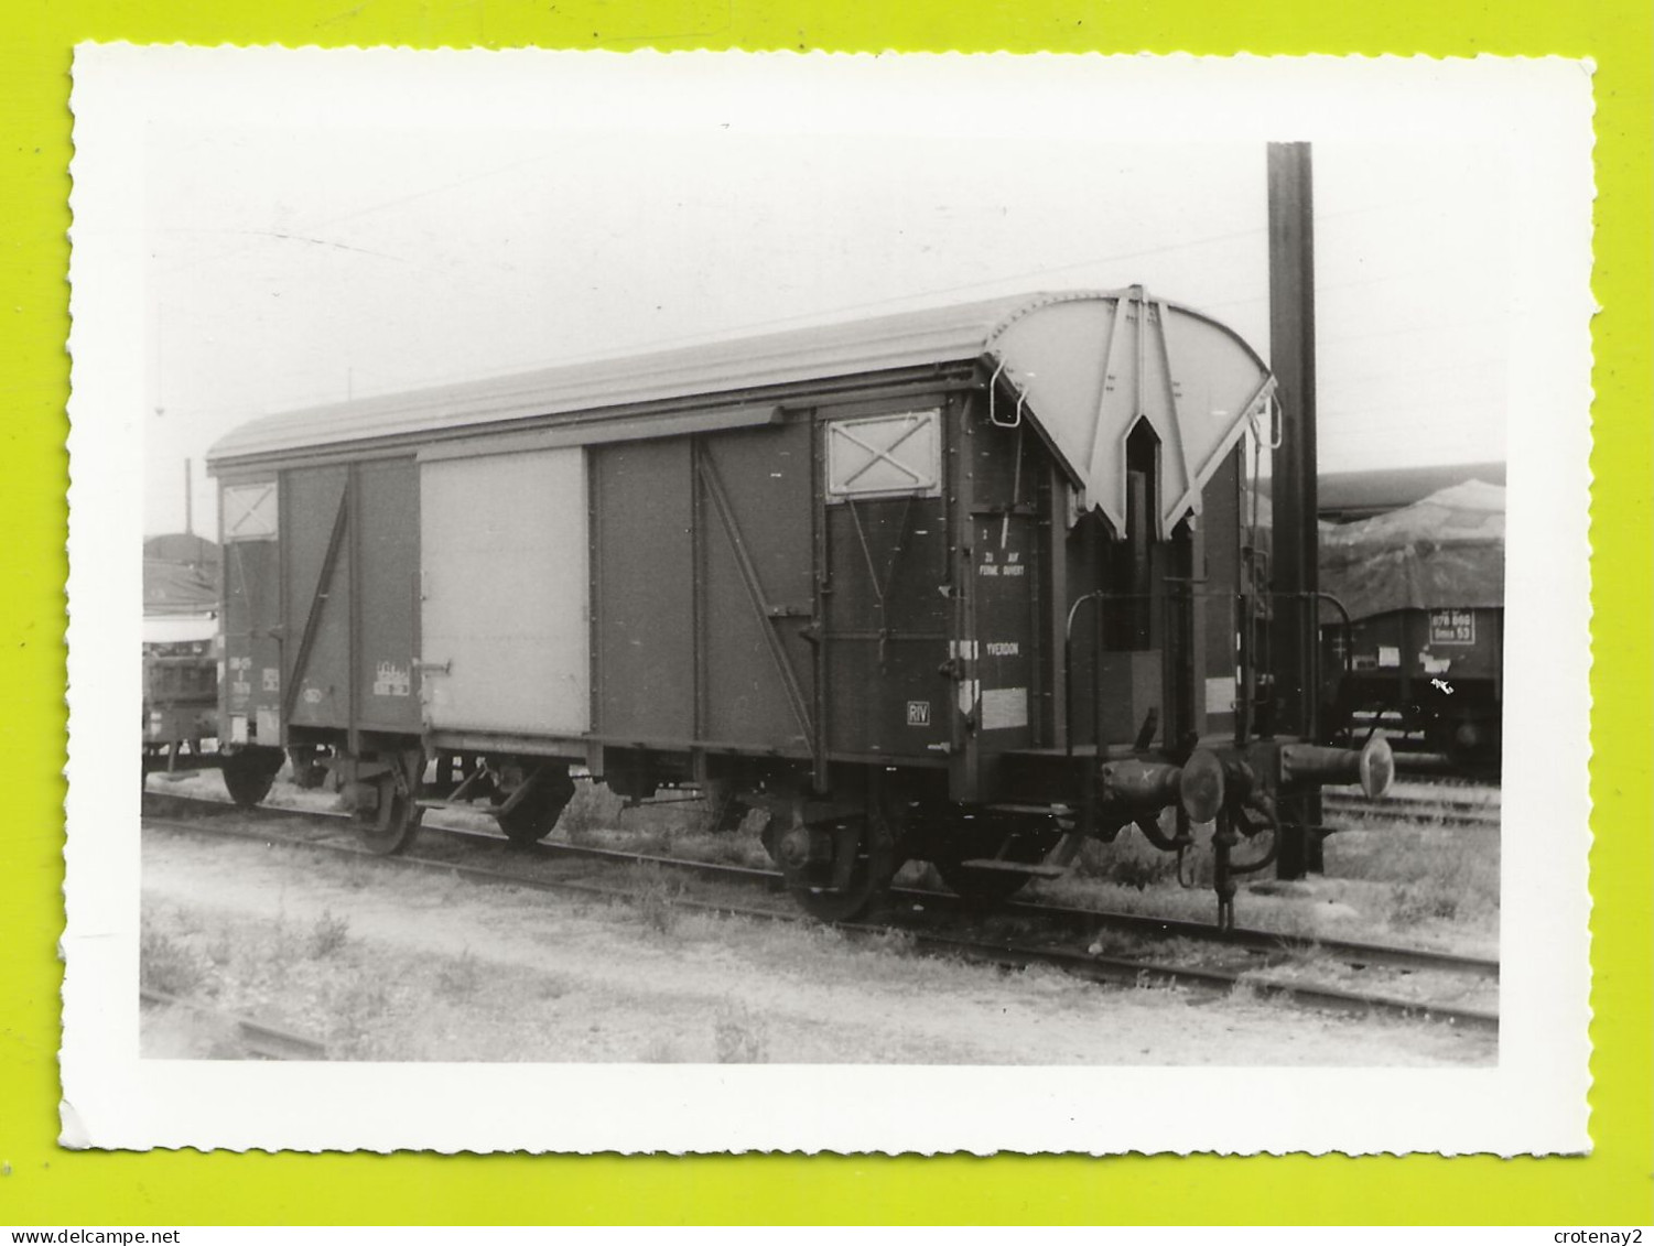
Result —
<instances>
[{"instance_id":1,"label":"tall dark metal pole standing behind the wagon's right end","mask_svg":"<svg viewBox=\"0 0 1654 1246\"><path fill-rule=\"evenodd\" d=\"M1275 728L1313 740L1320 688L1315 645L1320 591L1315 490L1315 197L1310 144L1269 144L1269 354L1280 395L1274 453ZM1282 803L1277 875L1322 870L1320 793Z\"/></svg>"}]
</instances>

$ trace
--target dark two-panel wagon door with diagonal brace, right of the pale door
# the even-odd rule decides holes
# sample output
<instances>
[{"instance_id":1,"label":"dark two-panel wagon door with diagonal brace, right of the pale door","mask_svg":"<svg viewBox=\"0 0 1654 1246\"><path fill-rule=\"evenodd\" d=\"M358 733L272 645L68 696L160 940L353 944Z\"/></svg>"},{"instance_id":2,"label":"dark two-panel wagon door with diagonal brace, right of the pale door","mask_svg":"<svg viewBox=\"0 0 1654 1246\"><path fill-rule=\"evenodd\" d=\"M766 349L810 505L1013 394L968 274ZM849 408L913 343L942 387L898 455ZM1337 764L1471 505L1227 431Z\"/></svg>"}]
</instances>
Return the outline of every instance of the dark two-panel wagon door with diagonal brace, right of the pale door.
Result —
<instances>
[{"instance_id":1,"label":"dark two-panel wagon door with diagonal brace, right of the pale door","mask_svg":"<svg viewBox=\"0 0 1654 1246\"><path fill-rule=\"evenodd\" d=\"M592 447L597 735L809 756L802 420Z\"/></svg>"}]
</instances>

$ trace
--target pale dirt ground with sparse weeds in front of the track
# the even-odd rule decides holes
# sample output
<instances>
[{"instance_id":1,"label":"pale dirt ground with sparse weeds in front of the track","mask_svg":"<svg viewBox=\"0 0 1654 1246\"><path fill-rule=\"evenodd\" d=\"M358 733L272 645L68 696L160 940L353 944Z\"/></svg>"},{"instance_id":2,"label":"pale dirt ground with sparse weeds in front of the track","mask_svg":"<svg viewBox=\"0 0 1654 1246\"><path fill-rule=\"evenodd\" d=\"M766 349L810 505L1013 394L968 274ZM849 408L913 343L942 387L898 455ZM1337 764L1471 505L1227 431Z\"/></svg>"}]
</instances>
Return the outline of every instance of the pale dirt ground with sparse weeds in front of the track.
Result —
<instances>
[{"instance_id":1,"label":"pale dirt ground with sparse weeds in front of the track","mask_svg":"<svg viewBox=\"0 0 1654 1246\"><path fill-rule=\"evenodd\" d=\"M314 849L144 832L146 1057L238 1057L237 1014L334 1059L1490 1064L1439 1023L1239 990L1110 990L913 955L900 937L480 887Z\"/></svg>"}]
</instances>

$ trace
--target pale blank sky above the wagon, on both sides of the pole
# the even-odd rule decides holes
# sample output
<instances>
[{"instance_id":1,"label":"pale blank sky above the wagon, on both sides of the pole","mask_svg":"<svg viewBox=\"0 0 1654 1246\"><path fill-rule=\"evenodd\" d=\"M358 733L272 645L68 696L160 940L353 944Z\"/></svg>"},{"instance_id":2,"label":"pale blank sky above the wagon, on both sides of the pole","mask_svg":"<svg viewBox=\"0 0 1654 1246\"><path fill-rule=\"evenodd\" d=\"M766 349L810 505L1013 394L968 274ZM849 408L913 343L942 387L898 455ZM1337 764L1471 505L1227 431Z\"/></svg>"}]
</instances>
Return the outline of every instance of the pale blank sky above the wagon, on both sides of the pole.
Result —
<instances>
[{"instance_id":1,"label":"pale blank sky above the wagon, on both sides of the pole","mask_svg":"<svg viewBox=\"0 0 1654 1246\"><path fill-rule=\"evenodd\" d=\"M817 81L769 113L741 74L648 99L572 78L490 124L440 74L395 109L266 108L304 81L281 73L157 109L132 189L146 533L184 528L189 458L213 534L203 457L243 420L705 336L1141 283L1269 354L1264 136L1146 141L1092 124L1088 88ZM1502 147L1335 134L1313 175L1322 472L1502 462Z\"/></svg>"}]
</instances>

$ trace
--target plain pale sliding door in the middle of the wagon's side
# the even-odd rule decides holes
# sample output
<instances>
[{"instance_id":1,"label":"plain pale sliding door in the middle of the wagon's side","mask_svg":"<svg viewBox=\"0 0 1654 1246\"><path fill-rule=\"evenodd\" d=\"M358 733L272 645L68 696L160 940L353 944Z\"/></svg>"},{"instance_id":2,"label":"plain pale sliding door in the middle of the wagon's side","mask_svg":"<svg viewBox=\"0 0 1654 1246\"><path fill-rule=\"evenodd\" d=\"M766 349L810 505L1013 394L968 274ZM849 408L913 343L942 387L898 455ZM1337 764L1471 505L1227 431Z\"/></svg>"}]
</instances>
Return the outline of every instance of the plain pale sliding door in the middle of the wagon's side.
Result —
<instances>
[{"instance_id":1,"label":"plain pale sliding door in the middle of the wagon's side","mask_svg":"<svg viewBox=\"0 0 1654 1246\"><path fill-rule=\"evenodd\" d=\"M586 452L420 463L422 692L435 731L590 726Z\"/></svg>"}]
</instances>

